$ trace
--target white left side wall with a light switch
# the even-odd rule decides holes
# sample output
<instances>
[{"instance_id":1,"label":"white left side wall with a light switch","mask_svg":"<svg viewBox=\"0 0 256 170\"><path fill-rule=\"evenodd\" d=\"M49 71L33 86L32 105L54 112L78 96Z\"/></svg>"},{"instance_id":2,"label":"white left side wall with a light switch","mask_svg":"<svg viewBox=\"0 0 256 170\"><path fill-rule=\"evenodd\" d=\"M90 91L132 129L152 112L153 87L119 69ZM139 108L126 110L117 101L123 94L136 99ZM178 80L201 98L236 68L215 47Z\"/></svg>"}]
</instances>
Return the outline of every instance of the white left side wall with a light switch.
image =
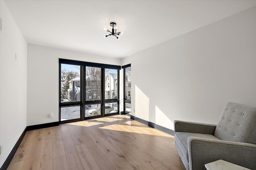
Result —
<instances>
[{"instance_id":1,"label":"white left side wall with a light switch","mask_svg":"<svg viewBox=\"0 0 256 170\"><path fill-rule=\"evenodd\" d=\"M0 31L1 167L26 128L27 43L2 0L0 17L3 25Z\"/></svg>"}]
</instances>

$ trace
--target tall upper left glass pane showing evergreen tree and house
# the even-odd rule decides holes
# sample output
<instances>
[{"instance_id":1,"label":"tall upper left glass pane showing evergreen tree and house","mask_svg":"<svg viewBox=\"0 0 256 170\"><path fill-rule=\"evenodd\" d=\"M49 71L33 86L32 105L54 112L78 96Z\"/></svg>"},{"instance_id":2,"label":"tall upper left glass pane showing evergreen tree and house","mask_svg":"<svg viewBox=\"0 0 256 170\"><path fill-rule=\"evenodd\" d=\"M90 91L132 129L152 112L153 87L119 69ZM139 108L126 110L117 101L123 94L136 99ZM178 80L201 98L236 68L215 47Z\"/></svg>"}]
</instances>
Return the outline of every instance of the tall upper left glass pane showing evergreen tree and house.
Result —
<instances>
[{"instance_id":1,"label":"tall upper left glass pane showing evergreen tree and house","mask_svg":"<svg viewBox=\"0 0 256 170\"><path fill-rule=\"evenodd\" d=\"M60 101L80 101L80 66L61 64L61 96Z\"/></svg>"}]
</instances>

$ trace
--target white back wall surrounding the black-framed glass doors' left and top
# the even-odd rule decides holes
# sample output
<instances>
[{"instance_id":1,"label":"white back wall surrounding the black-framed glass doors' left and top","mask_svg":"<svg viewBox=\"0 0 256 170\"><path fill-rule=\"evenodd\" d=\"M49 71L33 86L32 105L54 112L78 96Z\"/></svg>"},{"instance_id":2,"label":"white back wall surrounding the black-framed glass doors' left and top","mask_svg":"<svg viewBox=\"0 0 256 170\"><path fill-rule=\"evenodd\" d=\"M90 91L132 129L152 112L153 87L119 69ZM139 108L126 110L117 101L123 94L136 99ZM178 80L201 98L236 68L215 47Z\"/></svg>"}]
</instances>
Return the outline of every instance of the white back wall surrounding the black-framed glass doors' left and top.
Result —
<instances>
[{"instance_id":1,"label":"white back wall surrounding the black-framed glass doors' left and top","mask_svg":"<svg viewBox=\"0 0 256 170\"><path fill-rule=\"evenodd\" d=\"M121 59L28 44L27 125L59 121L59 58L120 65ZM49 118L49 112L53 117Z\"/></svg>"}]
</instances>

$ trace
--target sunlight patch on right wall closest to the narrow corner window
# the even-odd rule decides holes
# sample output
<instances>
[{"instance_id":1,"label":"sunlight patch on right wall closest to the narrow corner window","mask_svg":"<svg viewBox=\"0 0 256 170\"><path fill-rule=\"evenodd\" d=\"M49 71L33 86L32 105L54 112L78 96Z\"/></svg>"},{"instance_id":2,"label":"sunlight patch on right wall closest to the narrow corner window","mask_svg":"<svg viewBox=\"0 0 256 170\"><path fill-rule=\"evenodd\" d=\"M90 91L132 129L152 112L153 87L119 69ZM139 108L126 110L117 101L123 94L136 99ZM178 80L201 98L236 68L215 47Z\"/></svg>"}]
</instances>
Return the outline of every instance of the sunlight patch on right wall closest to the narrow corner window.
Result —
<instances>
[{"instance_id":1,"label":"sunlight patch on right wall closest to the narrow corner window","mask_svg":"<svg viewBox=\"0 0 256 170\"><path fill-rule=\"evenodd\" d=\"M149 121L149 98L135 85L135 116Z\"/></svg>"}]
</instances>

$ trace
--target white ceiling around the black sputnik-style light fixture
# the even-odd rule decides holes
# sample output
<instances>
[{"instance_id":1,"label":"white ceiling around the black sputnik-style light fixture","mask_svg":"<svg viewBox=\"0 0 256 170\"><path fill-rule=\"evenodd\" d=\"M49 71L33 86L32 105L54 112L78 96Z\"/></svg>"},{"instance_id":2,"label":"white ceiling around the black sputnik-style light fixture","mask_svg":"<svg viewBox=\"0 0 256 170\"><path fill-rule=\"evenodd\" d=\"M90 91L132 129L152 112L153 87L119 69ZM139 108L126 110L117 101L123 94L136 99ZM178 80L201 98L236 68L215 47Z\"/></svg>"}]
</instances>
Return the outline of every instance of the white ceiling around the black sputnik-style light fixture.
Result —
<instances>
[{"instance_id":1,"label":"white ceiling around the black sputnik-style light fixture","mask_svg":"<svg viewBox=\"0 0 256 170\"><path fill-rule=\"evenodd\" d=\"M253 6L256 0L4 0L27 43L123 58ZM116 22L121 41L102 38ZM3 21L4 24L4 21Z\"/></svg>"}]
</instances>

